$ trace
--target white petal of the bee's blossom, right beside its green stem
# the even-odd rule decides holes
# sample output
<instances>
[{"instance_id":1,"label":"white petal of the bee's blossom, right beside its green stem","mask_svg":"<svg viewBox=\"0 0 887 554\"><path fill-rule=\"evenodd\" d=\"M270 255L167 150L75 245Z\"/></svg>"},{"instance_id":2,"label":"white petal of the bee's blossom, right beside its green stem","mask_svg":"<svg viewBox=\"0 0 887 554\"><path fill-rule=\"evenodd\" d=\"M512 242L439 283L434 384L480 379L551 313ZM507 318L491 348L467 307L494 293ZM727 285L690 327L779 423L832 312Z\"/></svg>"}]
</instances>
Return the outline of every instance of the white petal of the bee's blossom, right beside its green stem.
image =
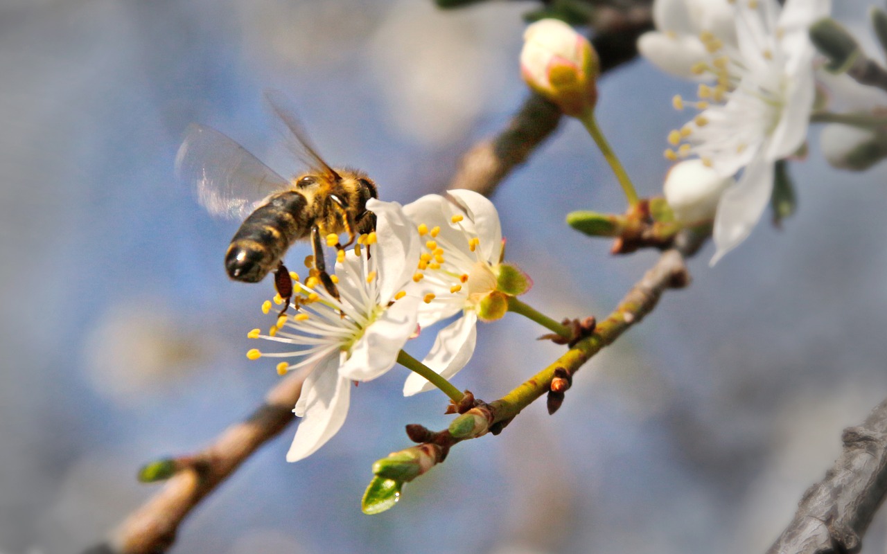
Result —
<instances>
[{"instance_id":1,"label":"white petal of the bee's blossom, right beside its green stem","mask_svg":"<svg viewBox=\"0 0 887 554\"><path fill-rule=\"evenodd\" d=\"M351 347L348 360L339 368L339 375L369 381L394 367L397 353L416 330L419 301L406 296L385 309Z\"/></svg>"}]
</instances>

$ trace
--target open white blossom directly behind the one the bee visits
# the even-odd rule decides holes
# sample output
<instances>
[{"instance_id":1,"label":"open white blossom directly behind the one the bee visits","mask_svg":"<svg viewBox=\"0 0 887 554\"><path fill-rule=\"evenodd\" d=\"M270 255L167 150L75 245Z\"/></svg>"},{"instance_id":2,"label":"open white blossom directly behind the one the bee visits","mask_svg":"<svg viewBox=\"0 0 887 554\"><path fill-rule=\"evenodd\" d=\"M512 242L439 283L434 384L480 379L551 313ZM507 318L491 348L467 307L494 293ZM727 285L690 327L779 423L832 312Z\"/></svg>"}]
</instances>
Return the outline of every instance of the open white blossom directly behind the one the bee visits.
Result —
<instances>
[{"instance_id":1,"label":"open white blossom directly behind the one the bee visits","mask_svg":"<svg viewBox=\"0 0 887 554\"><path fill-rule=\"evenodd\" d=\"M507 294L530 286L522 273L501 263L502 230L498 213L489 199L473 191L449 191L446 197L424 196L404 206L404 212L424 241L414 281L420 289L419 324L426 327L451 316L454 322L437 333L434 346L422 361L430 369L451 378L475 351L478 318L495 319L505 314ZM503 293L503 282L514 284ZM431 390L417 374L404 384L404 395Z\"/></svg>"}]
</instances>

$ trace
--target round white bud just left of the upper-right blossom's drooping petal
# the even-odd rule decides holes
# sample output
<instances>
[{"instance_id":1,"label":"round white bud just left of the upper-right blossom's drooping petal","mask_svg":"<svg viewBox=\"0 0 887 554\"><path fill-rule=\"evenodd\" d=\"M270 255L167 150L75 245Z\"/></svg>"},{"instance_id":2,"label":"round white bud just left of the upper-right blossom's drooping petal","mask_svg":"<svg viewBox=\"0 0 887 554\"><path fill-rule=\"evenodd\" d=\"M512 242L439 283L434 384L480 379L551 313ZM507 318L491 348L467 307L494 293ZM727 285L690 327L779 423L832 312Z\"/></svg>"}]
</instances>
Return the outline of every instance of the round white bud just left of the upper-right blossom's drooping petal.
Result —
<instances>
[{"instance_id":1,"label":"round white bud just left of the upper-right blossom's drooping petal","mask_svg":"<svg viewBox=\"0 0 887 554\"><path fill-rule=\"evenodd\" d=\"M718 175L703 160L685 160L665 176L663 192L677 221L703 222L715 216L721 194L733 183L733 177Z\"/></svg>"}]
</instances>

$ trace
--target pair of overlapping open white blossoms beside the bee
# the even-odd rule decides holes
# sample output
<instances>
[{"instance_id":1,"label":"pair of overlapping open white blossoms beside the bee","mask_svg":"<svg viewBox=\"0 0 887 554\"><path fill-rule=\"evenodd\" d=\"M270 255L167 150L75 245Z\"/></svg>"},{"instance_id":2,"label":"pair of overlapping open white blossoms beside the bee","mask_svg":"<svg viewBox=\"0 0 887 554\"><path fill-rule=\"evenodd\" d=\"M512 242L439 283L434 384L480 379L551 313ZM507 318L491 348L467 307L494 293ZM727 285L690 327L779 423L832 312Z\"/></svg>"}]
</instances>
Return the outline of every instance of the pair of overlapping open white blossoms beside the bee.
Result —
<instances>
[{"instance_id":1,"label":"pair of overlapping open white blossoms beside the bee","mask_svg":"<svg viewBox=\"0 0 887 554\"><path fill-rule=\"evenodd\" d=\"M302 422L287 453L290 462L310 456L338 432L348 413L351 383L389 371L420 329L455 316L422 360L451 378L474 353L478 320L504 315L507 296L529 287L525 278L518 279L523 285L517 289L509 286L514 267L502 263L498 213L476 192L428 195L404 207L372 199L366 207L376 215L376 230L340 251L331 276L339 297L316 275L304 282L294 276L294 315L279 316L267 333L249 333L294 350L252 349L247 357L283 358L280 374L307 373L293 410ZM263 311L270 308L271 301L265 302ZM411 373L404 395L432 388Z\"/></svg>"}]
</instances>

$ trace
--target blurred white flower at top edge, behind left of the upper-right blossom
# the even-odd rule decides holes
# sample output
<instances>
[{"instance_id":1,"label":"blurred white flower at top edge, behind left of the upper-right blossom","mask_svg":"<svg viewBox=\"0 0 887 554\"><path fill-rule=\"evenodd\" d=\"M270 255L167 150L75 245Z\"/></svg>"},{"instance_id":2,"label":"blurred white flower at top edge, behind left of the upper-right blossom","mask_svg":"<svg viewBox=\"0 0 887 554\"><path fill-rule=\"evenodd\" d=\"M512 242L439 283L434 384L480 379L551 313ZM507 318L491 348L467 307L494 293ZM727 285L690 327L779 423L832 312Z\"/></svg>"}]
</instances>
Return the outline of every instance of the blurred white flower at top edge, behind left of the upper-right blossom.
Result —
<instances>
[{"instance_id":1,"label":"blurred white flower at top edge, behind left of the upper-right blossom","mask_svg":"<svg viewBox=\"0 0 887 554\"><path fill-rule=\"evenodd\" d=\"M655 0L656 30L638 39L638 51L664 72L707 79L718 51L736 49L733 3L728 0Z\"/></svg>"}]
</instances>

